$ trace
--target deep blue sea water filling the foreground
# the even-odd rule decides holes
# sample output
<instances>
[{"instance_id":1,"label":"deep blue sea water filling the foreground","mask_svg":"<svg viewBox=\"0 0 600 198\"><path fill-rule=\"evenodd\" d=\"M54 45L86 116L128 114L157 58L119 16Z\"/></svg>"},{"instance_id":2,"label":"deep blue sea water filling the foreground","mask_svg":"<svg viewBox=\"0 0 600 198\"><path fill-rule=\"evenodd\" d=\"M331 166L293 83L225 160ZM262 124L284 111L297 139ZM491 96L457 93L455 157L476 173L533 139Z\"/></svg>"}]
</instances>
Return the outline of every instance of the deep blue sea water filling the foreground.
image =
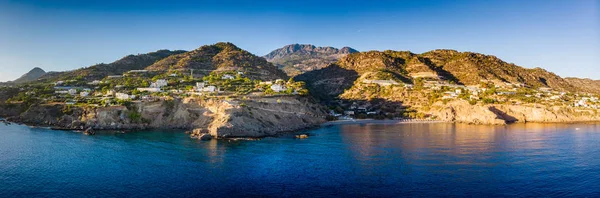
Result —
<instances>
[{"instance_id":1,"label":"deep blue sea water filling the foreground","mask_svg":"<svg viewBox=\"0 0 600 198\"><path fill-rule=\"evenodd\" d=\"M0 197L600 196L600 125L340 125L259 141L0 126Z\"/></svg>"}]
</instances>

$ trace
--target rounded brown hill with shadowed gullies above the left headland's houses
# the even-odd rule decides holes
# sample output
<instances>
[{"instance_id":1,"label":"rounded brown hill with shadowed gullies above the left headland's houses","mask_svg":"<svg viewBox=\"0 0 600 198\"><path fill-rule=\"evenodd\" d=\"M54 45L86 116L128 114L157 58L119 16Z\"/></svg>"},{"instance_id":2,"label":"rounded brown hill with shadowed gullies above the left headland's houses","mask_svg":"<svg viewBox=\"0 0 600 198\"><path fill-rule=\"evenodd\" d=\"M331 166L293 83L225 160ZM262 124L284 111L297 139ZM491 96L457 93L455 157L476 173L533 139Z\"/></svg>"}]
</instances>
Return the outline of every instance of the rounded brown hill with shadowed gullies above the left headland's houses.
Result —
<instances>
[{"instance_id":1,"label":"rounded brown hill with shadowed gullies above the left headland's houses","mask_svg":"<svg viewBox=\"0 0 600 198\"><path fill-rule=\"evenodd\" d=\"M205 45L196 50L160 60L146 69L153 71L193 69L196 74L208 74L213 71L243 71L252 79L287 78L285 73L264 58L242 50L232 43Z\"/></svg>"}]
</instances>

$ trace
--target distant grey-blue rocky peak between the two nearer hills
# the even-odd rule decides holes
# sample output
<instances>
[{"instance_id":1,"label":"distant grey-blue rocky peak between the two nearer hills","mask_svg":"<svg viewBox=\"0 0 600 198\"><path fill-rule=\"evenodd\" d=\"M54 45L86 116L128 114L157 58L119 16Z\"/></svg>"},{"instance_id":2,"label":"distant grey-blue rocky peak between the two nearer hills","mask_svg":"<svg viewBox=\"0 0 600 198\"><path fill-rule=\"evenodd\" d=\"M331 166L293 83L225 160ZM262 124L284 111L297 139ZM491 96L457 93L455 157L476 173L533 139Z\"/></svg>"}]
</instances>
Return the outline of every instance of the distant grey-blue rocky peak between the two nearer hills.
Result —
<instances>
[{"instance_id":1,"label":"distant grey-blue rocky peak between the two nearer hills","mask_svg":"<svg viewBox=\"0 0 600 198\"><path fill-rule=\"evenodd\" d=\"M340 58L356 53L355 49L343 47L316 47L306 44L292 44L273 50L264 56L267 61L275 64L290 76L296 76L307 71L321 69Z\"/></svg>"}]
</instances>

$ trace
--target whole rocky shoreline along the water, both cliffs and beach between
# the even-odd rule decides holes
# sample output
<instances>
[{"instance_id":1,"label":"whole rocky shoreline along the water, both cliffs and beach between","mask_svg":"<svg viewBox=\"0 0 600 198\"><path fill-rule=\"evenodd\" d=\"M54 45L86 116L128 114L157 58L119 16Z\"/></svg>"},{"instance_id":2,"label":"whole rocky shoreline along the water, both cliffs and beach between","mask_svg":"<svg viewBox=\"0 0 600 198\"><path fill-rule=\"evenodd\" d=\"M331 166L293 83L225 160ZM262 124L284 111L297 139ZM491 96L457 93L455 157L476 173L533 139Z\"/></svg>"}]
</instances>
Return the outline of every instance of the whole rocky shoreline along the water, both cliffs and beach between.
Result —
<instances>
[{"instance_id":1,"label":"whole rocky shoreline along the water, both cliffs and beach between","mask_svg":"<svg viewBox=\"0 0 600 198\"><path fill-rule=\"evenodd\" d=\"M506 125L511 123L599 122L595 112L540 105L470 105L463 101L435 104L436 120L338 120L326 122L325 110L303 97L256 100L212 100L182 98L141 102L134 105L70 108L65 105L35 105L0 122L47 127L53 130L132 131L181 129L190 137L262 138L342 124L467 123ZM410 121L410 122L408 122Z\"/></svg>"}]
</instances>

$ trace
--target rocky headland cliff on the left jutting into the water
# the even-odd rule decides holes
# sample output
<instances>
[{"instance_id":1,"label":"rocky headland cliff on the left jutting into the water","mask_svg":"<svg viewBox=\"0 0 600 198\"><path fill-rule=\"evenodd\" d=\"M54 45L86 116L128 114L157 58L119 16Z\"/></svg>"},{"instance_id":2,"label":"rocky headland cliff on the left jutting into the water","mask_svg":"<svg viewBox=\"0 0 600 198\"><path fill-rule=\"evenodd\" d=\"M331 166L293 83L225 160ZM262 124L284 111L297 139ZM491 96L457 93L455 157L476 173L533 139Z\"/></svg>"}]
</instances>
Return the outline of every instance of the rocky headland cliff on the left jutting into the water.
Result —
<instances>
[{"instance_id":1,"label":"rocky headland cliff on the left jutting into the water","mask_svg":"<svg viewBox=\"0 0 600 198\"><path fill-rule=\"evenodd\" d=\"M304 97L183 98L112 107L36 105L11 121L65 129L196 129L214 137L264 137L318 126L322 107Z\"/></svg>"}]
</instances>

